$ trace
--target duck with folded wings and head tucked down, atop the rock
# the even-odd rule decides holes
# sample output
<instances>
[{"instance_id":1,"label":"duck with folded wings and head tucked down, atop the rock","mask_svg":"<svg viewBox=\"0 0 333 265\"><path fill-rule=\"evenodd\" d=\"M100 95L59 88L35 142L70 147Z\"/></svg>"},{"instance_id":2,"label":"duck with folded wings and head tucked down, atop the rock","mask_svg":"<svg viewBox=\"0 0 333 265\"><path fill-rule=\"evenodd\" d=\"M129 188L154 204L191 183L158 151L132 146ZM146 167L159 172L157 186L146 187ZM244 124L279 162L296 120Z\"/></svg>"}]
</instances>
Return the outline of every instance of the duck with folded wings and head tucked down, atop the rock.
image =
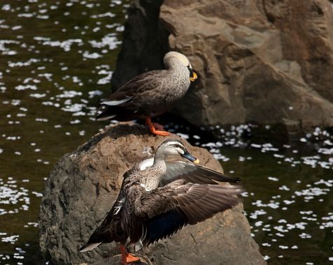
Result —
<instances>
[{"instance_id":1,"label":"duck with folded wings and head tucked down, atop the rock","mask_svg":"<svg viewBox=\"0 0 333 265\"><path fill-rule=\"evenodd\" d=\"M194 82L198 75L187 57L179 52L167 52L163 62L164 70L151 70L134 77L101 102L95 119L145 119L153 135L170 135L163 126L152 123L151 117L171 109L185 96L191 82Z\"/></svg>"}]
</instances>

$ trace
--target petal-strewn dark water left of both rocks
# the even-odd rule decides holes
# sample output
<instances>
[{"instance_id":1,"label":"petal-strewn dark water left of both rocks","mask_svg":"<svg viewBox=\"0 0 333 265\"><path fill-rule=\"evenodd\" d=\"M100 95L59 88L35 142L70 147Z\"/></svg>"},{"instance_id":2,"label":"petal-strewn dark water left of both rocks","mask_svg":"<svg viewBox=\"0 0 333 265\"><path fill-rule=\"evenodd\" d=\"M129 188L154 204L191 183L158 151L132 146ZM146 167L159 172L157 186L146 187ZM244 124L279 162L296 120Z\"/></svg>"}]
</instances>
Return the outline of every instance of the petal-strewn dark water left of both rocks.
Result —
<instances>
[{"instance_id":1,"label":"petal-strewn dark water left of both rocks","mask_svg":"<svg viewBox=\"0 0 333 265\"><path fill-rule=\"evenodd\" d=\"M125 1L126 2L126 1ZM36 264L37 215L55 162L101 128L123 1L0 1L0 263Z\"/></svg>"}]
</instances>

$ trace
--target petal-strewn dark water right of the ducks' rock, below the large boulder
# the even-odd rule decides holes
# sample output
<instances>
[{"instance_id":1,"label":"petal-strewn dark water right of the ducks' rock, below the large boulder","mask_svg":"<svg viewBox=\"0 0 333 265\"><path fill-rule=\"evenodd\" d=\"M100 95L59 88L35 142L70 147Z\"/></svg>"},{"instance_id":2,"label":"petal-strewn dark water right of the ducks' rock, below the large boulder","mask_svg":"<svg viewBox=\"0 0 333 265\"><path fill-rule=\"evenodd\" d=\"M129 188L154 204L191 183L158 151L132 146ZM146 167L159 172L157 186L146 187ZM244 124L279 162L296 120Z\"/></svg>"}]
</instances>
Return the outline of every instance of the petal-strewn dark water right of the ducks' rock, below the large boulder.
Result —
<instances>
[{"instance_id":1,"label":"petal-strewn dark water right of the ducks' rock, below the large boulder","mask_svg":"<svg viewBox=\"0 0 333 265\"><path fill-rule=\"evenodd\" d=\"M313 244L323 240L318 239L316 231L330 234L333 227L332 212L325 212L332 209L332 205L325 204L333 185L332 135L316 128L300 144L276 145L244 141L242 135L250 133L251 128L251 125L234 126L230 130L215 128L221 132L220 140L201 146L220 159L226 172L243 179L247 190L242 194L244 209L253 227L252 236L259 243L263 240L264 259L292 259L297 251L307 252L309 257L315 255L317 246ZM304 211L309 208L313 210ZM329 257L318 260L323 259L327 261ZM302 262L306 262L306 256Z\"/></svg>"}]
</instances>

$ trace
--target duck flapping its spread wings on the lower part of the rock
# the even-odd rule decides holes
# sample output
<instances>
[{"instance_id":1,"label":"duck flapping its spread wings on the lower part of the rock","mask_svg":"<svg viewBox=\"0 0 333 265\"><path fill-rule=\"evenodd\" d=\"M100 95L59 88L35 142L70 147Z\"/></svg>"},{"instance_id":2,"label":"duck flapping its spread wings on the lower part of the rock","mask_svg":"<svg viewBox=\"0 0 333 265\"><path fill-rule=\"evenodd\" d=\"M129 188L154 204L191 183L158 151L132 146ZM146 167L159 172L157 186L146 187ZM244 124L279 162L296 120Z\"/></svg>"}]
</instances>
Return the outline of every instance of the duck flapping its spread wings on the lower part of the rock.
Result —
<instances>
[{"instance_id":1,"label":"duck flapping its spread wings on the lower part of the rock","mask_svg":"<svg viewBox=\"0 0 333 265\"><path fill-rule=\"evenodd\" d=\"M167 160L169 156L176 160ZM179 156L183 159L180 160ZM240 180L198 165L179 139L166 139L155 156L125 172L111 211L79 251L120 243L122 264L139 262L134 251L195 225L240 202ZM219 185L229 182L229 185Z\"/></svg>"}]
</instances>

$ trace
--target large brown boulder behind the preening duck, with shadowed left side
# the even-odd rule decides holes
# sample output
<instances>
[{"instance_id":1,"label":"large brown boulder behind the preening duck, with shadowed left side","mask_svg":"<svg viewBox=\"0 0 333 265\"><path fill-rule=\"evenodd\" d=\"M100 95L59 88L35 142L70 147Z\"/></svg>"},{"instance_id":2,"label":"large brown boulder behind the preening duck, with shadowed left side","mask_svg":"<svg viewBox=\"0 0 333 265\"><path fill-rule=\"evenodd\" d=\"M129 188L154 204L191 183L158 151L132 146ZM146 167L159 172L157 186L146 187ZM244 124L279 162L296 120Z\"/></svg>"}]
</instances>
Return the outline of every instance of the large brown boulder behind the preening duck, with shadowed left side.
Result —
<instances>
[{"instance_id":1,"label":"large brown boulder behind the preening duck, with shadowed left side","mask_svg":"<svg viewBox=\"0 0 333 265\"><path fill-rule=\"evenodd\" d=\"M147 20L149 1L134 2L130 10L137 13L130 12L125 27L113 89L138 73L162 68L169 46L186 54L201 77L176 109L194 125L281 124L295 133L333 126L329 1L165 0L158 2L159 20L144 27L134 18ZM152 28L150 38L140 38ZM151 44L154 50L141 52ZM126 63L134 57L141 63Z\"/></svg>"}]
</instances>

